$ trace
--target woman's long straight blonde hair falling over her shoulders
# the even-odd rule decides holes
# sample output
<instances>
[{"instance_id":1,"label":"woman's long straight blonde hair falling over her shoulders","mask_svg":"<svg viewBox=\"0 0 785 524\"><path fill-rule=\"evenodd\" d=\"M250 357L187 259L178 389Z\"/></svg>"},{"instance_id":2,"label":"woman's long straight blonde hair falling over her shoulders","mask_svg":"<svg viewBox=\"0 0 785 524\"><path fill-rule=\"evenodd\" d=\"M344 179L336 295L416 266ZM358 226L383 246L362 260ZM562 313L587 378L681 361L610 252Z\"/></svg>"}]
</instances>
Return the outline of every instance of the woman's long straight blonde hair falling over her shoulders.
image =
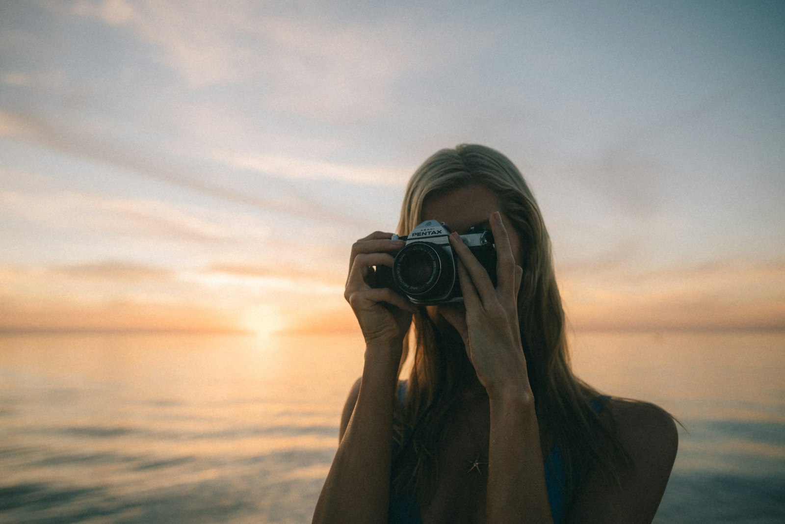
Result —
<instances>
[{"instance_id":1,"label":"woman's long straight blonde hair falling over her shoulders","mask_svg":"<svg viewBox=\"0 0 785 524\"><path fill-rule=\"evenodd\" d=\"M422 221L427 198L469 184L486 187L498 197L500 211L524 247L518 253L524 270L518 293L520 338L539 425L550 430L560 447L568 486L574 486L596 464L613 475L611 464L623 451L612 428L591 406L597 391L571 371L550 238L534 195L513 162L480 145L437 151L409 180L397 232L407 235ZM421 311L414 315L401 358L403 366L409 348L413 349L405 399L396 414L393 489L416 493L424 503L433 497L436 486L435 449L440 445L444 422L455 408L462 379L473 372L464 351L444 351L447 341L442 339L433 321Z\"/></svg>"}]
</instances>

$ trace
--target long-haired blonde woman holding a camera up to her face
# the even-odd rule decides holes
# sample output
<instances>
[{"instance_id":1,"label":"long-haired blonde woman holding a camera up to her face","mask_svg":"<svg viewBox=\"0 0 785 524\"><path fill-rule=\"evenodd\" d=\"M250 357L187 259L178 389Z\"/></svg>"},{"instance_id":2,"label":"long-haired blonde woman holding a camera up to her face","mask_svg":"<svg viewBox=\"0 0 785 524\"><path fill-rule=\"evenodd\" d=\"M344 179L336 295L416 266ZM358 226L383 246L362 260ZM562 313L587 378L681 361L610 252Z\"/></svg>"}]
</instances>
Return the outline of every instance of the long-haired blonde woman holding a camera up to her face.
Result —
<instances>
[{"instance_id":1,"label":"long-haired blonde woman holding a camera up to her face","mask_svg":"<svg viewBox=\"0 0 785 524\"><path fill-rule=\"evenodd\" d=\"M430 219L454 231L461 305L374 287L373 267L403 246L391 234L352 246L345 297L365 364L314 522L651 522L674 421L572 374L550 240L520 172L488 147L437 152L408 184L398 234ZM458 237L477 224L495 238L495 286Z\"/></svg>"}]
</instances>

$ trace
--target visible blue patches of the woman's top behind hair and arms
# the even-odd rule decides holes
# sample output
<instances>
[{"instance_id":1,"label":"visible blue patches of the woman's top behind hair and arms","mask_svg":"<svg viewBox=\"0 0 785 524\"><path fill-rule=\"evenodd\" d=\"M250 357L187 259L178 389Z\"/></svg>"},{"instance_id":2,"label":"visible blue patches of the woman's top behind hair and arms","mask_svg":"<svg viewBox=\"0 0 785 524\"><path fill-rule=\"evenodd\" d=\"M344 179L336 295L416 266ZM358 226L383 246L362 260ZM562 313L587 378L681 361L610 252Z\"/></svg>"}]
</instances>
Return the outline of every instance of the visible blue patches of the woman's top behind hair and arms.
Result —
<instances>
[{"instance_id":1,"label":"visible blue patches of the woman's top behind hair and arms","mask_svg":"<svg viewBox=\"0 0 785 524\"><path fill-rule=\"evenodd\" d=\"M403 403L406 382L398 386L398 398ZM600 413L602 406L609 397L602 395L591 402L591 406ZM545 485L548 489L548 502L553 524L564 522L567 518L567 471L564 471L564 458L559 446L553 446L545 460ZM414 498L391 497L388 522L390 524L422 524Z\"/></svg>"}]
</instances>

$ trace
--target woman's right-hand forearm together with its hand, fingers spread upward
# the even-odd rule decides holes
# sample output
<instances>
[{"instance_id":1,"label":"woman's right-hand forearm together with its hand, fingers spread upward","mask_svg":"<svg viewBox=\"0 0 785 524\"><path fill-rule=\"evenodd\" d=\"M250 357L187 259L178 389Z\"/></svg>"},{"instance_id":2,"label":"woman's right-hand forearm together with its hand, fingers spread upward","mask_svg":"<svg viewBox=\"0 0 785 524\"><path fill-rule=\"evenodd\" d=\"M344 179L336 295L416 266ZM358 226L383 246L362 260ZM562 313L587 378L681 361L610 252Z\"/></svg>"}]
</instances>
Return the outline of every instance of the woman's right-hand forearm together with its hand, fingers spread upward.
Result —
<instances>
[{"instance_id":1,"label":"woman's right-hand forearm together with its hand, fingers spread upward","mask_svg":"<svg viewBox=\"0 0 785 524\"><path fill-rule=\"evenodd\" d=\"M521 347L517 294L522 269L515 264L499 213L489 220L496 244L497 286L457 235L466 316L442 308L461 333L491 408L486 522L553 522L545 484L539 425Z\"/></svg>"}]
</instances>

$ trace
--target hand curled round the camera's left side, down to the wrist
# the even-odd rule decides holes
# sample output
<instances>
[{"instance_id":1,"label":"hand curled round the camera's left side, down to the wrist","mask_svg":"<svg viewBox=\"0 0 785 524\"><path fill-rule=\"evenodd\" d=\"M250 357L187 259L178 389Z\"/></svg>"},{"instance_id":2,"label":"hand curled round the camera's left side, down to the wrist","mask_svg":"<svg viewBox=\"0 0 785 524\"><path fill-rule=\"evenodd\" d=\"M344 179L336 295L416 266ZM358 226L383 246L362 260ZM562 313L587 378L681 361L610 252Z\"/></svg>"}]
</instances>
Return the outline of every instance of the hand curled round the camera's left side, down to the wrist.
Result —
<instances>
[{"instance_id":1,"label":"hand curled round the camera's left side, down to the wrist","mask_svg":"<svg viewBox=\"0 0 785 524\"><path fill-rule=\"evenodd\" d=\"M352 306L366 344L400 344L411 325L417 307L406 297L389 288L371 286L374 266L392 267L402 240L392 240L392 233L376 231L360 238L352 246L349 278L344 297Z\"/></svg>"}]
</instances>

